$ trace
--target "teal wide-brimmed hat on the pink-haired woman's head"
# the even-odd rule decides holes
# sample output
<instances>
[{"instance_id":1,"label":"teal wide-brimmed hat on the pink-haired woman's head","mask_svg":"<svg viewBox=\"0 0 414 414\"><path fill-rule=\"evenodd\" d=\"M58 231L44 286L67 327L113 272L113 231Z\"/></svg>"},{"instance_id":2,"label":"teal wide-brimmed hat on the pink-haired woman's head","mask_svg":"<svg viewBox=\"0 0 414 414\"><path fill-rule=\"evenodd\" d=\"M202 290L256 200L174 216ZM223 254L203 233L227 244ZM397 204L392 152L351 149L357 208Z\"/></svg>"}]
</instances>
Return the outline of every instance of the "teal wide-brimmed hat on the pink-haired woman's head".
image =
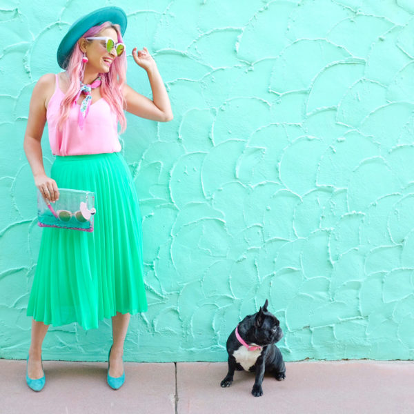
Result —
<instances>
[{"instance_id":1,"label":"teal wide-brimmed hat on the pink-haired woman's head","mask_svg":"<svg viewBox=\"0 0 414 414\"><path fill-rule=\"evenodd\" d=\"M93 26L99 26L105 21L119 24L121 27L121 35L124 36L126 30L126 14L119 7L103 7L94 12L86 14L86 16L77 19L70 26L65 37L63 37L59 48L57 48L57 63L62 69L66 69L66 64L73 46L81 38L82 34L87 32Z\"/></svg>"}]
</instances>

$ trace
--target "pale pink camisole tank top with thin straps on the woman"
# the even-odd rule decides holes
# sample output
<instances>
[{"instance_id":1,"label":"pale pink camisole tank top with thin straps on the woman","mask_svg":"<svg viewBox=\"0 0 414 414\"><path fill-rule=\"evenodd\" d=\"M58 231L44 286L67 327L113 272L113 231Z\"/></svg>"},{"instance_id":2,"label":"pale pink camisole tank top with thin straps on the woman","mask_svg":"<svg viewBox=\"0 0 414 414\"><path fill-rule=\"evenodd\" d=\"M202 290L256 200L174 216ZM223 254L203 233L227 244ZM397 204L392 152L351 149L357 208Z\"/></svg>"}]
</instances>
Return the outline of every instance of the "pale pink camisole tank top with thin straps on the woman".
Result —
<instances>
[{"instance_id":1,"label":"pale pink camisole tank top with thin straps on the woman","mask_svg":"<svg viewBox=\"0 0 414 414\"><path fill-rule=\"evenodd\" d=\"M78 126L79 104L72 106L69 117L61 131L57 128L59 106L65 94L59 88L58 77L55 80L55 92L48 103L49 142L53 155L86 155L119 152L117 115L108 102L101 98L89 108L83 129ZM83 95L82 95L83 96Z\"/></svg>"}]
</instances>

